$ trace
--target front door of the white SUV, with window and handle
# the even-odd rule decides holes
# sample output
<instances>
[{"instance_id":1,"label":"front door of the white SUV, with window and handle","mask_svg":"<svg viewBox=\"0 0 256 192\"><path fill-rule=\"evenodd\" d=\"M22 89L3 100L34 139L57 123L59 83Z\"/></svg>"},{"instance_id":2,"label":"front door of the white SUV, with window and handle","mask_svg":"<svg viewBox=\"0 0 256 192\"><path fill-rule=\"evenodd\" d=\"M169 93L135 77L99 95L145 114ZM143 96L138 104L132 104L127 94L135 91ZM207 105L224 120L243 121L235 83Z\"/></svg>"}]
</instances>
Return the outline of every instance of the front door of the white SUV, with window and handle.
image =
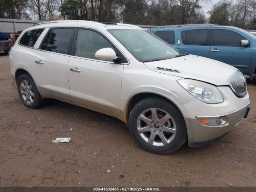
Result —
<instances>
[{"instance_id":1,"label":"front door of the white SUV, with window and handle","mask_svg":"<svg viewBox=\"0 0 256 192\"><path fill-rule=\"evenodd\" d=\"M115 47L99 32L79 29L68 63L70 97L77 105L119 117L123 63L95 58L102 48Z\"/></svg>"}]
</instances>

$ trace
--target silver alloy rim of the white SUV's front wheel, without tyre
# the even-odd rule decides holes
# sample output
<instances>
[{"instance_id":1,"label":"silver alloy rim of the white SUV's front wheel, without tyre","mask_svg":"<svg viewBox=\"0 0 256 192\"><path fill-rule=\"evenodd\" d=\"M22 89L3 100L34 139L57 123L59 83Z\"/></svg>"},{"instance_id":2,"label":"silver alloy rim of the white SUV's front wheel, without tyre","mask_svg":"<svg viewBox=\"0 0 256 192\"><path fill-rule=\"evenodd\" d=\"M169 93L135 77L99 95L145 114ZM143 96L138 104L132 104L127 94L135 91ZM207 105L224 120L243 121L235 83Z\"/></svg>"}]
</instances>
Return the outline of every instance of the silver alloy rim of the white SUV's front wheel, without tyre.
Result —
<instances>
[{"instance_id":1,"label":"silver alloy rim of the white SUV's front wheel, without tyre","mask_svg":"<svg viewBox=\"0 0 256 192\"><path fill-rule=\"evenodd\" d=\"M154 146L167 145L176 135L174 119L159 108L144 110L138 117L137 129L143 140Z\"/></svg>"}]
</instances>

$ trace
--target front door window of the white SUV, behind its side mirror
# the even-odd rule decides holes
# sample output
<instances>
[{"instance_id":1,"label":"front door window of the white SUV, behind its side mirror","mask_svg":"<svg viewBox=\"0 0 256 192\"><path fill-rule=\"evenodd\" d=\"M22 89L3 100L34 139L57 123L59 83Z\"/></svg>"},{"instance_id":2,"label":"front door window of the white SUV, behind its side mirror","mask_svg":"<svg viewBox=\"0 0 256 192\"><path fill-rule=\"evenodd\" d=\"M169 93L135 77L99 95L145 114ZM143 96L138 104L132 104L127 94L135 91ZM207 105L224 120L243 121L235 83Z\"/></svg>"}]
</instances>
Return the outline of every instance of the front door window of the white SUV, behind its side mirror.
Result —
<instances>
[{"instance_id":1,"label":"front door window of the white SUV, behind its side mirror","mask_svg":"<svg viewBox=\"0 0 256 192\"><path fill-rule=\"evenodd\" d=\"M97 59L95 53L99 49L114 47L100 34L91 30L80 29L76 40L76 53L78 57Z\"/></svg>"}]
</instances>

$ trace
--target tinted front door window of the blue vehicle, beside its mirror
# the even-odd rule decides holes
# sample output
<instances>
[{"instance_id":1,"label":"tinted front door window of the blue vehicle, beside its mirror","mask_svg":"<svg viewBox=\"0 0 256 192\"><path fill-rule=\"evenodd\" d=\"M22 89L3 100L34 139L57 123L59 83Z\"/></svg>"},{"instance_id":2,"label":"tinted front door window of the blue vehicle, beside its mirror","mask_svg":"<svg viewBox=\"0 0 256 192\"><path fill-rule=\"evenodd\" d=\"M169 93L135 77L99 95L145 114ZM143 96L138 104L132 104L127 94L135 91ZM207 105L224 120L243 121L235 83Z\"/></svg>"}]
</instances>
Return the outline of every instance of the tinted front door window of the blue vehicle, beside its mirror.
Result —
<instances>
[{"instance_id":1,"label":"tinted front door window of the blue vehicle, beside its mirror","mask_svg":"<svg viewBox=\"0 0 256 192\"><path fill-rule=\"evenodd\" d=\"M242 35L224 29L213 30L213 45L217 46L240 46L240 40L246 39Z\"/></svg>"}]
</instances>

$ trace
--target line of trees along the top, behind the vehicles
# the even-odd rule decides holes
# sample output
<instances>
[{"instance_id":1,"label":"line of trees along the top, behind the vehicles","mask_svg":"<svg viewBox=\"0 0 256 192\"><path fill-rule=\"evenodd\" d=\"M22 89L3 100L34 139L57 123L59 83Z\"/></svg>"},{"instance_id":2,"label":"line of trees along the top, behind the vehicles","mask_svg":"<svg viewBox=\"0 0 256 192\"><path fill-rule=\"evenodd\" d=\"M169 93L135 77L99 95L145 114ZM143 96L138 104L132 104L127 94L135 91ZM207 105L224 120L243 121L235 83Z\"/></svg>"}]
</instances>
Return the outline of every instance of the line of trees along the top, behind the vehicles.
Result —
<instances>
[{"instance_id":1,"label":"line of trees along the top, behind the vehicles","mask_svg":"<svg viewBox=\"0 0 256 192\"><path fill-rule=\"evenodd\" d=\"M0 0L0 18L72 19L129 24L214 23L256 29L256 0L222 0L209 19L202 12L209 0Z\"/></svg>"}]
</instances>

